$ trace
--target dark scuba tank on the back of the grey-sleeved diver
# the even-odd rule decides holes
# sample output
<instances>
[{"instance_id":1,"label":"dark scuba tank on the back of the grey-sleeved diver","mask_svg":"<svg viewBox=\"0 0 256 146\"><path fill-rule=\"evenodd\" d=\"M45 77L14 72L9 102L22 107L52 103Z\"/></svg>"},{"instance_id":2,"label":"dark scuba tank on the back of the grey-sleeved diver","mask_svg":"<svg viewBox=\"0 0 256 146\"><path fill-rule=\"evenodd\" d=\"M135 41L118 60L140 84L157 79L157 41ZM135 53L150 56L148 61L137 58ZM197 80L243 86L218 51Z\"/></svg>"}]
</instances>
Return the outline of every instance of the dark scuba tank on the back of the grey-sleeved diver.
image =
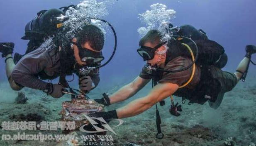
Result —
<instances>
[{"instance_id":1,"label":"dark scuba tank on the back of the grey-sleeved diver","mask_svg":"<svg viewBox=\"0 0 256 146\"><path fill-rule=\"evenodd\" d=\"M75 6L71 5L71 7ZM46 38L56 35L63 26L63 22L68 19L68 16L65 16L68 7L62 7L62 9L41 10L34 19L26 24L25 35L21 38L22 40L29 40L25 54L40 47ZM15 53L14 63L17 64L24 55Z\"/></svg>"}]
</instances>

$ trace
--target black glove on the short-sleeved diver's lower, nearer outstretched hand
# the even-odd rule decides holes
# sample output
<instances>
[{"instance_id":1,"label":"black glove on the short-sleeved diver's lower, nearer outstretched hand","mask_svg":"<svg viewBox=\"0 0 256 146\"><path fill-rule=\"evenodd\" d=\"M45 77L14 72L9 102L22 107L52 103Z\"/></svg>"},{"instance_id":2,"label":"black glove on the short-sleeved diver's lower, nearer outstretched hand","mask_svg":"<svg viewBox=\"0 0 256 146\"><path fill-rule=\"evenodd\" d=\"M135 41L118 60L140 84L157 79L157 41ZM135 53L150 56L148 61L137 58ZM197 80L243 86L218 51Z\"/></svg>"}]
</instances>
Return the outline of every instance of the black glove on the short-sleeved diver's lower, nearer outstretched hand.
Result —
<instances>
[{"instance_id":1,"label":"black glove on the short-sleeved diver's lower, nearer outstretched hand","mask_svg":"<svg viewBox=\"0 0 256 146\"><path fill-rule=\"evenodd\" d=\"M95 118L103 118L106 122L109 122L109 119L118 119L117 111L107 111L107 112L98 112L98 111L91 111L88 112L88 116L95 117Z\"/></svg>"}]
</instances>

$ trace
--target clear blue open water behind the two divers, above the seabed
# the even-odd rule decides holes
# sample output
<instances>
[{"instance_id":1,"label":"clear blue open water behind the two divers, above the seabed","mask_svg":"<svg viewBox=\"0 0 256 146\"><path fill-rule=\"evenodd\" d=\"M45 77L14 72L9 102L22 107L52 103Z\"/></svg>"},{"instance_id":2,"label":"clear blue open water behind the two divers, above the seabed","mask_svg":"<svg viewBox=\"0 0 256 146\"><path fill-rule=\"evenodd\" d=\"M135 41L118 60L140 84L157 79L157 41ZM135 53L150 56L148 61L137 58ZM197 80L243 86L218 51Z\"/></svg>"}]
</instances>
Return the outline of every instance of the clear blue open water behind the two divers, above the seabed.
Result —
<instances>
[{"instance_id":1,"label":"clear blue open water behind the two divers, above the seabed","mask_svg":"<svg viewBox=\"0 0 256 146\"><path fill-rule=\"evenodd\" d=\"M24 26L39 10L59 8L77 4L79 0L8 0L0 2L0 42L15 42L15 52L23 54L27 41L20 38ZM176 11L174 26L191 24L204 30L211 40L221 44L229 57L225 69L234 71L244 57L247 44L256 45L255 0L118 0L109 8L105 17L117 32L117 52L110 64L101 69L102 83L129 82L137 76L144 62L136 52L139 43L137 29L144 24L139 13L150 9L150 5L162 3ZM107 38L105 55L112 51L112 34ZM0 61L0 66L5 66ZM117 69L118 68L118 69ZM0 81L6 81L5 70L0 70Z\"/></svg>"}]
</instances>

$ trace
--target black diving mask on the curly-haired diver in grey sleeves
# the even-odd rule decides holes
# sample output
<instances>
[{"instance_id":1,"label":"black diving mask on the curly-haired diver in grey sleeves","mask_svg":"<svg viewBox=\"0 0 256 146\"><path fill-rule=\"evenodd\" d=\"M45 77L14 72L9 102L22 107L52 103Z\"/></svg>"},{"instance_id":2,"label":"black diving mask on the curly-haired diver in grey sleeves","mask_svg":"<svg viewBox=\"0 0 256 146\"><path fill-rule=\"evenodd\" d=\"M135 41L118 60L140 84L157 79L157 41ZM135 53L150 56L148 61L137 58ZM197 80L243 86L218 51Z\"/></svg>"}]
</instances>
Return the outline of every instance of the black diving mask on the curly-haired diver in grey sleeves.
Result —
<instances>
[{"instance_id":1,"label":"black diving mask on the curly-haired diver in grey sleeves","mask_svg":"<svg viewBox=\"0 0 256 146\"><path fill-rule=\"evenodd\" d=\"M82 47L79 43L71 41L72 44L76 45L79 50L79 57L82 62L85 62L87 65L98 64L104 57L102 56L102 52L95 52L85 47Z\"/></svg>"}]
</instances>

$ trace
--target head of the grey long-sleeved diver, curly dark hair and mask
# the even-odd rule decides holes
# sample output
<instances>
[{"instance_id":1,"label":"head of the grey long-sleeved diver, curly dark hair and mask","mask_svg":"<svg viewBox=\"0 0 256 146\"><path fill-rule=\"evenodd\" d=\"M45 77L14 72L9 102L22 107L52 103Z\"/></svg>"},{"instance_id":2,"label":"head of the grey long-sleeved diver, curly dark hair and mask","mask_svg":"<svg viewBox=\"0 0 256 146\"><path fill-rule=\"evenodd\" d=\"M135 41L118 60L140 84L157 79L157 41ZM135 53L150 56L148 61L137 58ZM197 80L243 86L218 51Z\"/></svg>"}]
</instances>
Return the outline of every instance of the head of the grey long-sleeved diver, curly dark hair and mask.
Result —
<instances>
[{"instance_id":1,"label":"head of the grey long-sleeved diver, curly dark hair and mask","mask_svg":"<svg viewBox=\"0 0 256 146\"><path fill-rule=\"evenodd\" d=\"M80 66L90 66L104 59L102 49L104 34L94 25L85 25L71 41L76 62Z\"/></svg>"}]
</instances>

